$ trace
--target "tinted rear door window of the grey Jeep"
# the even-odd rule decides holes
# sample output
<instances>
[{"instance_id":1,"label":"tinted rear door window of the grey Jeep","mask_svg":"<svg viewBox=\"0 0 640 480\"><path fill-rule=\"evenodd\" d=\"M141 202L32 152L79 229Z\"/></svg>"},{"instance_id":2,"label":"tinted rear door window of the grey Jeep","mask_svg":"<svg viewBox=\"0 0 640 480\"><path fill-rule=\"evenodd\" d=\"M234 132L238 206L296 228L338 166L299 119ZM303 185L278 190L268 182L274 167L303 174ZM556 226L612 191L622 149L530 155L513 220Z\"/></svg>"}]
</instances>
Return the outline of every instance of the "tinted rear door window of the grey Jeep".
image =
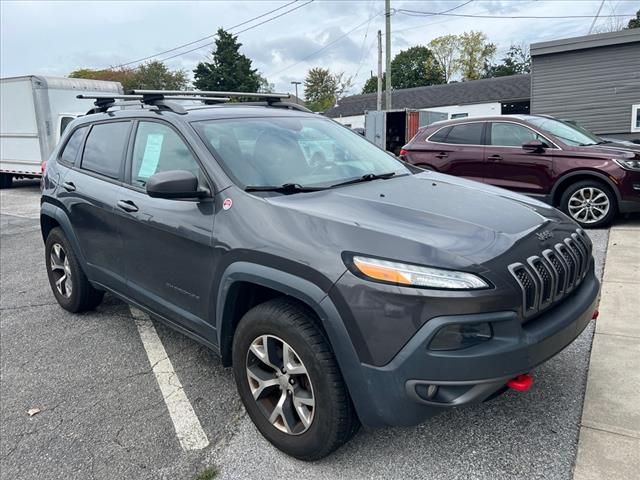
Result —
<instances>
[{"instance_id":1,"label":"tinted rear door window of the grey Jeep","mask_svg":"<svg viewBox=\"0 0 640 480\"><path fill-rule=\"evenodd\" d=\"M125 145L130 122L94 125L84 147L82 168L118 178L124 163Z\"/></svg>"}]
</instances>

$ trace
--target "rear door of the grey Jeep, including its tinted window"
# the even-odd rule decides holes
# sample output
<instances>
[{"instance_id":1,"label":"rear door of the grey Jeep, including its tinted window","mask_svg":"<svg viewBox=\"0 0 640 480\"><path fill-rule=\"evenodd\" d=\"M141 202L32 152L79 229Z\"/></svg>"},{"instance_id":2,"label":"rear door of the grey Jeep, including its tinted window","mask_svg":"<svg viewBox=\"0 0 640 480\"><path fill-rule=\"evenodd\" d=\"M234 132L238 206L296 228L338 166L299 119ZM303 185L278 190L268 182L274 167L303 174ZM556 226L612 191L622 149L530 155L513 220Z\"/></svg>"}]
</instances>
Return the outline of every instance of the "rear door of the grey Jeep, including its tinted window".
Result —
<instances>
[{"instance_id":1,"label":"rear door of the grey Jeep, including its tinted window","mask_svg":"<svg viewBox=\"0 0 640 480\"><path fill-rule=\"evenodd\" d=\"M115 205L122 189L130 131L128 120L81 127L69 137L59 159L62 165L73 167L61 178L58 198L80 243L86 273L91 280L120 291L126 282ZM74 165L69 150L82 143Z\"/></svg>"}]
</instances>

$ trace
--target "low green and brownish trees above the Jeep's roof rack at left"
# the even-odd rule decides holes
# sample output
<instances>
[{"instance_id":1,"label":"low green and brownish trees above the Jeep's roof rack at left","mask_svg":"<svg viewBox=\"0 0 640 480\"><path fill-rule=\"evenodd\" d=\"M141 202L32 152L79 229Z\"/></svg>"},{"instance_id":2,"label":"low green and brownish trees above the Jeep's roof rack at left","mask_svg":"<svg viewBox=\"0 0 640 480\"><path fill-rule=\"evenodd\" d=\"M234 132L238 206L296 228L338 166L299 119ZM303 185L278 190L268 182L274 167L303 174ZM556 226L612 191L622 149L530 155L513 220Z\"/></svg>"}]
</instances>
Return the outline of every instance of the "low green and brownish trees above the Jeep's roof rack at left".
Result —
<instances>
[{"instance_id":1,"label":"low green and brownish trees above the Jeep's roof rack at left","mask_svg":"<svg viewBox=\"0 0 640 480\"><path fill-rule=\"evenodd\" d=\"M120 82L125 92L135 89L184 90L189 83L184 70L171 71L164 63L158 61L145 63L138 68L81 68L71 72L69 77Z\"/></svg>"}]
</instances>

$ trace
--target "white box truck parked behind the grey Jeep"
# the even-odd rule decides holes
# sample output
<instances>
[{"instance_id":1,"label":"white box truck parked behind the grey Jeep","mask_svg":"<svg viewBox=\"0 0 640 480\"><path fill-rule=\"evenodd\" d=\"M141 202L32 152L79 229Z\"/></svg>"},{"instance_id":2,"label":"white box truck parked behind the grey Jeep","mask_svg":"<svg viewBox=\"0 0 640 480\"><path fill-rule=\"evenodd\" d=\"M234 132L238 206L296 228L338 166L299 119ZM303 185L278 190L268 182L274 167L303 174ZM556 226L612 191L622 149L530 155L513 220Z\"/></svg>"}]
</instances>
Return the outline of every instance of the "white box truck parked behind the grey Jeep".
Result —
<instances>
[{"instance_id":1,"label":"white box truck parked behind the grey Jeep","mask_svg":"<svg viewBox=\"0 0 640 480\"><path fill-rule=\"evenodd\" d=\"M38 178L66 126L93 107L79 94L122 94L119 82L28 75L0 79L0 188Z\"/></svg>"}]
</instances>

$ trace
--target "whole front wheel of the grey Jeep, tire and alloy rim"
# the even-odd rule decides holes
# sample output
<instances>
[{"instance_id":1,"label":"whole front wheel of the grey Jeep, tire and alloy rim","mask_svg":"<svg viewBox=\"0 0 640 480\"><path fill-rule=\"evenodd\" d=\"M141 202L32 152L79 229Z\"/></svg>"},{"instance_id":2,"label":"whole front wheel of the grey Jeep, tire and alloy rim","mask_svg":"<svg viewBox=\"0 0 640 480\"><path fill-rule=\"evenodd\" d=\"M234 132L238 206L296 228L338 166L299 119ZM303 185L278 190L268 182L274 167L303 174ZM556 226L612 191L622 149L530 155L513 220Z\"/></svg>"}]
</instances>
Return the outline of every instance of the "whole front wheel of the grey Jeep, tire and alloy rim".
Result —
<instances>
[{"instance_id":1,"label":"whole front wheel of the grey Jeep, tire and alloy rim","mask_svg":"<svg viewBox=\"0 0 640 480\"><path fill-rule=\"evenodd\" d=\"M318 460L347 442L359 422L324 333L312 313L270 300L240 320L233 372L260 433L301 460Z\"/></svg>"}]
</instances>

